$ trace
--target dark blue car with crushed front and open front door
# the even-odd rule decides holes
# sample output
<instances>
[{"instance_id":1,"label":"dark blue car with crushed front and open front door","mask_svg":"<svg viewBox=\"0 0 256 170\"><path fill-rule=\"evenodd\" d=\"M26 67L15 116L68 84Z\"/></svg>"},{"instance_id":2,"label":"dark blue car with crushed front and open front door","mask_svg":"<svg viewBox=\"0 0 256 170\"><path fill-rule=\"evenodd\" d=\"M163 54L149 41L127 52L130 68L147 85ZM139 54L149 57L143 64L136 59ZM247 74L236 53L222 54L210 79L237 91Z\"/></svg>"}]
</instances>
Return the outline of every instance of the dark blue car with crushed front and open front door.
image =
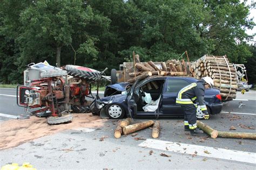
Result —
<instances>
[{"instance_id":1,"label":"dark blue car with crushed front and open front door","mask_svg":"<svg viewBox=\"0 0 256 170\"><path fill-rule=\"evenodd\" d=\"M102 118L121 119L127 117L183 117L180 105L176 104L179 90L197 82L192 77L151 76L134 84L117 83L106 87L103 98L93 100L90 109ZM221 112L220 91L205 90L205 102L209 114ZM197 118L204 114L197 108Z\"/></svg>"}]
</instances>

